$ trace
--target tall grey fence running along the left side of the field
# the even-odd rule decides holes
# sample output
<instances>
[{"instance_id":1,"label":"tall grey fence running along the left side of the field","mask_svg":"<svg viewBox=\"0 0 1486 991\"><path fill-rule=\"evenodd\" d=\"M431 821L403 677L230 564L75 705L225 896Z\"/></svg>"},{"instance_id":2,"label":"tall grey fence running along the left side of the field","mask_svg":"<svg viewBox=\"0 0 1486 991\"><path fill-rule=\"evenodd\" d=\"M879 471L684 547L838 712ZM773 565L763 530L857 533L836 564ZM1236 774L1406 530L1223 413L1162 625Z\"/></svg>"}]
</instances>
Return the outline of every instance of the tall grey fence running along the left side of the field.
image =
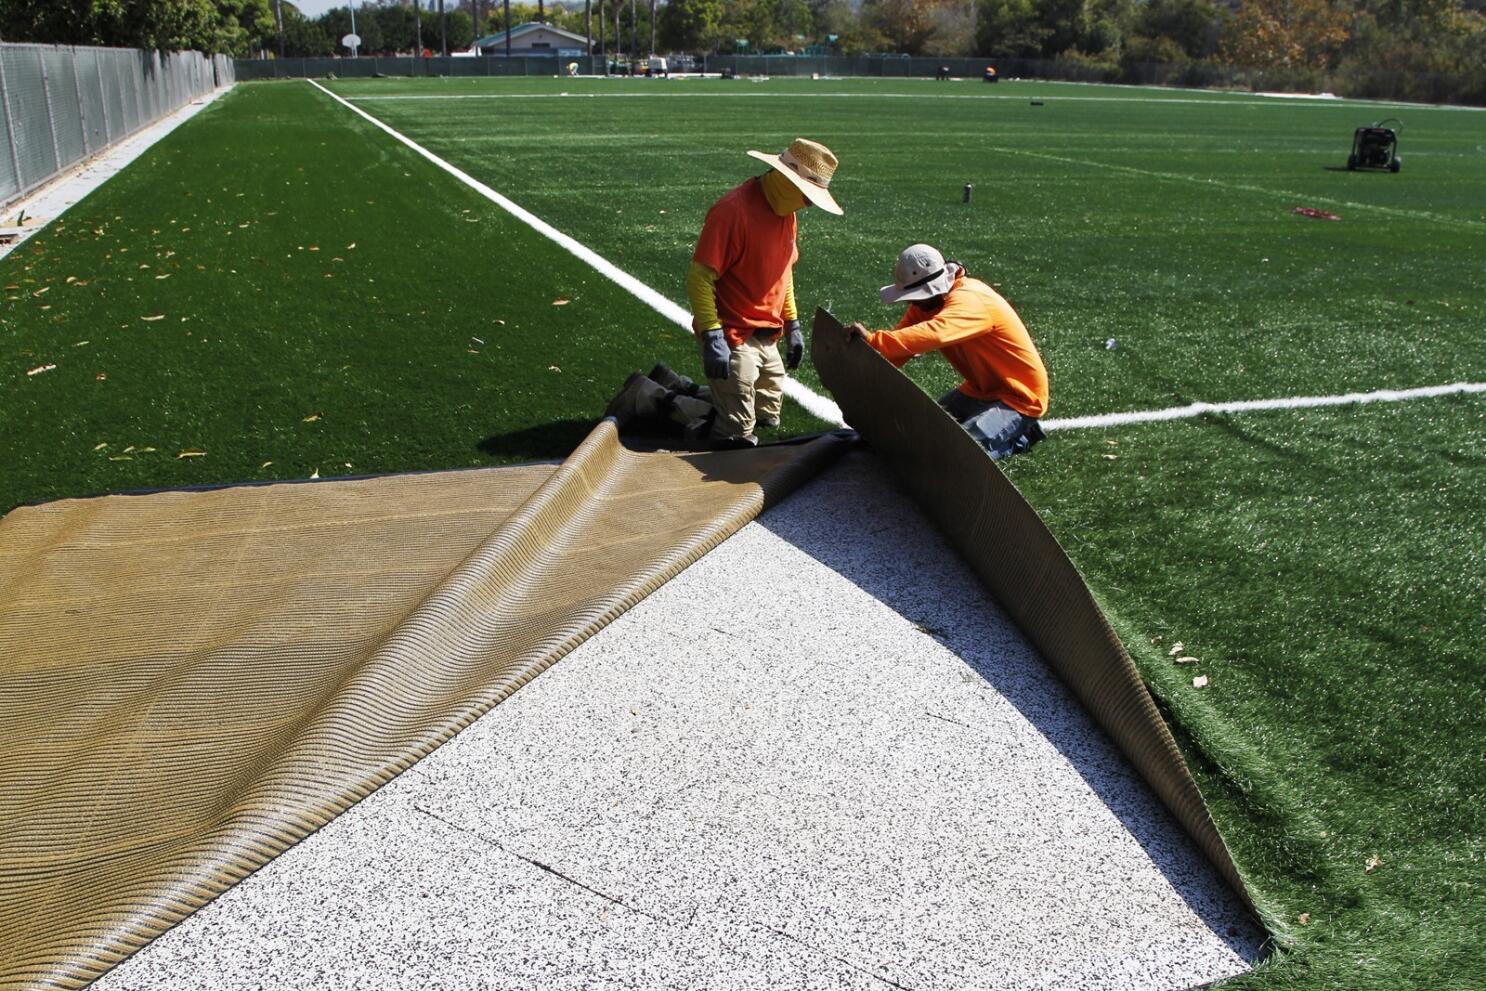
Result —
<instances>
[{"instance_id":1,"label":"tall grey fence running along the left side of the field","mask_svg":"<svg viewBox=\"0 0 1486 991\"><path fill-rule=\"evenodd\" d=\"M0 204L230 83L223 55L0 45Z\"/></svg>"}]
</instances>

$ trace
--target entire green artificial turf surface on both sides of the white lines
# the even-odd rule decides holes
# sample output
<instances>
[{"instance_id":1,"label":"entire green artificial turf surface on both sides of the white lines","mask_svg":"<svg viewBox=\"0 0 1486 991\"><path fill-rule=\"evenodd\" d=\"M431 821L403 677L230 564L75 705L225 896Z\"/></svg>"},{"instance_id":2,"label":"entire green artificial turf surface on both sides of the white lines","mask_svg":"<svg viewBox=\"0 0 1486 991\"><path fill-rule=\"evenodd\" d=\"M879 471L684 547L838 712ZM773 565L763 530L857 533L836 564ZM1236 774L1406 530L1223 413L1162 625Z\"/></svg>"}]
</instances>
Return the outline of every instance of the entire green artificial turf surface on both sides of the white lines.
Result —
<instances>
[{"instance_id":1,"label":"entire green artificial turf surface on both sides of the white lines","mask_svg":"<svg viewBox=\"0 0 1486 991\"><path fill-rule=\"evenodd\" d=\"M935 242L1018 306L1052 417L1486 380L1480 113L1016 82L330 85L678 302L706 208L758 171L743 150L825 141L847 212L801 217L802 306L886 325L893 257ZM1403 172L1342 169L1389 114ZM697 364L297 82L238 88L0 276L0 510L559 458L627 371ZM819 426L791 409L785 432ZM1230 987L1486 987L1486 398L1055 431L1008 472L1276 936Z\"/></svg>"}]
</instances>

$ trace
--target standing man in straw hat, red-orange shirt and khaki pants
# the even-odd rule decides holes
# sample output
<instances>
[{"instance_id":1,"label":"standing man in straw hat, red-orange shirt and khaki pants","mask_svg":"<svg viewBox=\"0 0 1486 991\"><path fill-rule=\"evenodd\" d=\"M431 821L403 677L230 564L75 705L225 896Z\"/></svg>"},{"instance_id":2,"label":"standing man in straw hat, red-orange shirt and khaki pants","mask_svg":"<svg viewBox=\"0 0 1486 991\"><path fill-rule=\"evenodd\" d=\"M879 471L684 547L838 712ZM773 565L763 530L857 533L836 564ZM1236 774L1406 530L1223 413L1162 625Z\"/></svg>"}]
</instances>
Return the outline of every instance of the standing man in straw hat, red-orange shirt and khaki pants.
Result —
<instances>
[{"instance_id":1,"label":"standing man in straw hat, red-orange shirt and khaki pants","mask_svg":"<svg viewBox=\"0 0 1486 991\"><path fill-rule=\"evenodd\" d=\"M718 410L713 447L752 447L755 426L779 426L785 370L805 354L795 308L795 212L814 204L841 215L831 196L837 159L823 144L795 138L779 155L749 155L770 171L712 205L687 275L692 331ZM788 360L780 360L780 337Z\"/></svg>"}]
</instances>

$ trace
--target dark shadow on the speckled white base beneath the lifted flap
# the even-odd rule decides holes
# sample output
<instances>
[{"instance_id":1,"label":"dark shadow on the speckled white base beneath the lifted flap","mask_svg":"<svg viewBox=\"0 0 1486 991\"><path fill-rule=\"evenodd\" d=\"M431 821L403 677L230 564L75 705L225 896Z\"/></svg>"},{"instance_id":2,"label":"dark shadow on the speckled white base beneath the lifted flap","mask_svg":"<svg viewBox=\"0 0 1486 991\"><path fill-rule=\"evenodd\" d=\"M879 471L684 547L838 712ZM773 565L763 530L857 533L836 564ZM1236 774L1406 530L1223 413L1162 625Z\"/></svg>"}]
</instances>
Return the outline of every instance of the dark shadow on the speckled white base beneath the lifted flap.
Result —
<instances>
[{"instance_id":1,"label":"dark shadow on the speckled white base beneath the lifted flap","mask_svg":"<svg viewBox=\"0 0 1486 991\"><path fill-rule=\"evenodd\" d=\"M1266 936L1257 921L1235 921L1245 912L1233 893L1052 672L1027 664L1033 649L1019 634L1008 642L1003 630L1015 627L994 605L987 611L985 593L954 550L933 533L915 551L935 565L920 562L914 571L914 551L903 545L914 541L899 523L914 514L911 501L875 459L857 471L871 490L811 499L805 489L758 523L958 655L1057 747L1213 933L1248 963L1263 958Z\"/></svg>"}]
</instances>

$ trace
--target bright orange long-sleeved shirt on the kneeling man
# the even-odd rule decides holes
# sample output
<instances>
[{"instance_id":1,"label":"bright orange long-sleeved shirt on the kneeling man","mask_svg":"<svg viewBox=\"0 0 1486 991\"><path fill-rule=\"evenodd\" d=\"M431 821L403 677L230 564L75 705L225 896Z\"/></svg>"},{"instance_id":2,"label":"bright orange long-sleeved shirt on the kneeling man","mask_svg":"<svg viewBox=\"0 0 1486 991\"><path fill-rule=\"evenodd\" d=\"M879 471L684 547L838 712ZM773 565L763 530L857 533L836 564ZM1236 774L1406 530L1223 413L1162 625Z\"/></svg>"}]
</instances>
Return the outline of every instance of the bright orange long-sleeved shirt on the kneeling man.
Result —
<instances>
[{"instance_id":1,"label":"bright orange long-sleeved shirt on the kneeling man","mask_svg":"<svg viewBox=\"0 0 1486 991\"><path fill-rule=\"evenodd\" d=\"M1022 416L1048 412L1048 370L1021 316L963 269L936 312L909 305L896 330L880 330L868 343L899 368L914 355L942 351L964 376L966 395L1005 403Z\"/></svg>"}]
</instances>

